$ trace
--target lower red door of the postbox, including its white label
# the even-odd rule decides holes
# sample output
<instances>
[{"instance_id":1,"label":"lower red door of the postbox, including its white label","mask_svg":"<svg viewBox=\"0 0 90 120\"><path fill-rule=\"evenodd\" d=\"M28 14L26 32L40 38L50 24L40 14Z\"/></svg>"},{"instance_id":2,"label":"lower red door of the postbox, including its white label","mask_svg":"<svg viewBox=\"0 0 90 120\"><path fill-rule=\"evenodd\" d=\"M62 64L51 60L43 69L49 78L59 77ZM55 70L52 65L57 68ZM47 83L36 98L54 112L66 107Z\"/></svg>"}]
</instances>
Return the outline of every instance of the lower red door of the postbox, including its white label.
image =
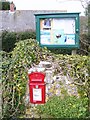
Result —
<instances>
[{"instance_id":1,"label":"lower red door of the postbox, including its white label","mask_svg":"<svg viewBox=\"0 0 90 120\"><path fill-rule=\"evenodd\" d=\"M45 84L30 84L30 102L34 104L45 103Z\"/></svg>"}]
</instances>

